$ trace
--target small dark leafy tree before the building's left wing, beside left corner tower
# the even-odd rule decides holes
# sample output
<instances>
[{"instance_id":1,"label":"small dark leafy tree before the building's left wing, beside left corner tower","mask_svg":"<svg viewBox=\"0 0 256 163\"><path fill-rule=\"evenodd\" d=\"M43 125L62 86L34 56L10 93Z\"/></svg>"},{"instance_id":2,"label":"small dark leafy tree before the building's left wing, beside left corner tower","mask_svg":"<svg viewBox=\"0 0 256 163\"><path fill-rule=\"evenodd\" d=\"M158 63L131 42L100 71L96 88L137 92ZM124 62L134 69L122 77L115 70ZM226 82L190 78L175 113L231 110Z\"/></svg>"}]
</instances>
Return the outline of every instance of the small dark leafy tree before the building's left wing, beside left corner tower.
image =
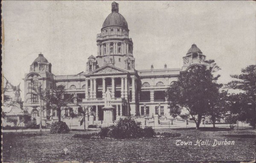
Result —
<instances>
[{"instance_id":1,"label":"small dark leafy tree before the building's left wing, beside left corner tower","mask_svg":"<svg viewBox=\"0 0 256 163\"><path fill-rule=\"evenodd\" d=\"M49 91L47 95L47 99L49 99L49 105L52 109L57 111L58 122L61 121L61 107L66 107L68 104L73 103L75 97L73 94L67 93L65 91L65 85L55 84L52 86L52 89Z\"/></svg>"}]
</instances>

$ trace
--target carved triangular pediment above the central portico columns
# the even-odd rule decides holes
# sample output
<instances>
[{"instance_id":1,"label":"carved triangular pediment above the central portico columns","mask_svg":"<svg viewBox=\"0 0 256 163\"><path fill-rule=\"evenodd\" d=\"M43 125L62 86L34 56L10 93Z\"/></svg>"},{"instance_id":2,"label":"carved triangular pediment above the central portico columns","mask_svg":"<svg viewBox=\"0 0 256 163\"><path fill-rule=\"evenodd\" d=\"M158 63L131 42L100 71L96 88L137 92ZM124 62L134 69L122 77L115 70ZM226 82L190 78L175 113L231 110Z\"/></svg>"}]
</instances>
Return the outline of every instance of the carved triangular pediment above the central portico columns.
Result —
<instances>
[{"instance_id":1,"label":"carved triangular pediment above the central portico columns","mask_svg":"<svg viewBox=\"0 0 256 163\"><path fill-rule=\"evenodd\" d=\"M88 73L88 74L118 74L118 73L128 73L126 70L114 67L112 65L104 65L98 69Z\"/></svg>"}]
</instances>

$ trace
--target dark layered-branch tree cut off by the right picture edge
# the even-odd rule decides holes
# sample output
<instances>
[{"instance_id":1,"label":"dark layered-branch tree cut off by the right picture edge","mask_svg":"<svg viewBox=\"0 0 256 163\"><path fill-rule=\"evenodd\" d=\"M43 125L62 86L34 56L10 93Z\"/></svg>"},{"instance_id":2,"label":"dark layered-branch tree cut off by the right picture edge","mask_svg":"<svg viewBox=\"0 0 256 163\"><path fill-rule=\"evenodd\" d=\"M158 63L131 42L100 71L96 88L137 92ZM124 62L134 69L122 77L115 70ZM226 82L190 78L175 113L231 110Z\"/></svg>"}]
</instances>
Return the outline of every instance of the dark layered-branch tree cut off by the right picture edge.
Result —
<instances>
[{"instance_id":1,"label":"dark layered-branch tree cut off by the right picture edge","mask_svg":"<svg viewBox=\"0 0 256 163\"><path fill-rule=\"evenodd\" d=\"M239 94L230 96L231 112L239 121L246 121L255 128L256 65L249 65L241 69L241 74L230 76L235 80L229 82L227 87L240 90Z\"/></svg>"}]
</instances>

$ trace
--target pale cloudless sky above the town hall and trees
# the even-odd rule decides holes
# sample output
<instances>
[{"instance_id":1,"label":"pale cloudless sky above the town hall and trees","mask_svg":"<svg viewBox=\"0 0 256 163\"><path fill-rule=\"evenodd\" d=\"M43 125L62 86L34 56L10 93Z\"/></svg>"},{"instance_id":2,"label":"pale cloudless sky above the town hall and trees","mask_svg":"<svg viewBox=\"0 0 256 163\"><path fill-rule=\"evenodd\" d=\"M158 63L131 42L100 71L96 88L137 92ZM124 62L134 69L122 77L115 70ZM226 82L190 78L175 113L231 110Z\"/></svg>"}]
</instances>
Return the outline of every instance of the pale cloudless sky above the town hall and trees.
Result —
<instances>
[{"instance_id":1,"label":"pale cloudless sky above the town hall and trees","mask_svg":"<svg viewBox=\"0 0 256 163\"><path fill-rule=\"evenodd\" d=\"M2 73L13 85L44 54L55 75L74 75L97 55L96 34L113 1L2 1ZM254 1L116 1L134 43L135 69L181 68L193 43L221 67L218 82L256 64ZM23 98L23 93L21 93Z\"/></svg>"}]
</instances>

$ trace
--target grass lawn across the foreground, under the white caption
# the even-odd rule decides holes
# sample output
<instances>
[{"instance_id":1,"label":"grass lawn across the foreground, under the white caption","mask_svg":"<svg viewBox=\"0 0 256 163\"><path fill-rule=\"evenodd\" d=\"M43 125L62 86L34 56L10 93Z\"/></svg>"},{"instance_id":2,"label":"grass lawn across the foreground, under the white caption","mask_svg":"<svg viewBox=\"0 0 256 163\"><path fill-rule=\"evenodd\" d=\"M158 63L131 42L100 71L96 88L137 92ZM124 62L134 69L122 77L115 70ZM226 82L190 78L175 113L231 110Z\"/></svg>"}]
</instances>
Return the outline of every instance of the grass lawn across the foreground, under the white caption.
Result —
<instances>
[{"instance_id":1,"label":"grass lawn across the foreground, under the white caption","mask_svg":"<svg viewBox=\"0 0 256 163\"><path fill-rule=\"evenodd\" d=\"M96 131L91 131L96 132ZM179 132L177 138L83 139L73 138L79 131L52 135L49 132L3 133L3 162L240 162L255 159L254 129L156 129ZM218 141L235 145L212 146ZM192 146L176 146L176 140L192 141ZM197 140L209 140L207 146L195 146ZM63 149L67 148L67 155Z\"/></svg>"}]
</instances>

